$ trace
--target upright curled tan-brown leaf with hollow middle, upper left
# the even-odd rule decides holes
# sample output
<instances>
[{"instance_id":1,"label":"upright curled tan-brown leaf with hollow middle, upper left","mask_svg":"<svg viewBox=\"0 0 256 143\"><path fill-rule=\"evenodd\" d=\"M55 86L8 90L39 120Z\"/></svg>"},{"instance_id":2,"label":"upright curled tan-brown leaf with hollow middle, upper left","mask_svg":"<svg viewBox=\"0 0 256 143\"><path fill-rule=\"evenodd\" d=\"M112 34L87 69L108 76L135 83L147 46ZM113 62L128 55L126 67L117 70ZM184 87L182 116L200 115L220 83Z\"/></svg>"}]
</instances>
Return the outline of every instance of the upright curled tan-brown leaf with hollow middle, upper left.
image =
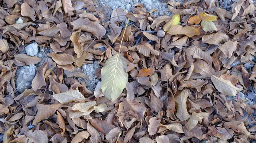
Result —
<instances>
[{"instance_id":1,"label":"upright curled tan-brown leaf with hollow middle, upper left","mask_svg":"<svg viewBox=\"0 0 256 143\"><path fill-rule=\"evenodd\" d=\"M79 43L80 32L81 30L79 29L79 31L73 32L70 36L70 40L73 43L75 53L77 54L77 58L80 58L83 52L83 46Z\"/></svg>"}]
</instances>

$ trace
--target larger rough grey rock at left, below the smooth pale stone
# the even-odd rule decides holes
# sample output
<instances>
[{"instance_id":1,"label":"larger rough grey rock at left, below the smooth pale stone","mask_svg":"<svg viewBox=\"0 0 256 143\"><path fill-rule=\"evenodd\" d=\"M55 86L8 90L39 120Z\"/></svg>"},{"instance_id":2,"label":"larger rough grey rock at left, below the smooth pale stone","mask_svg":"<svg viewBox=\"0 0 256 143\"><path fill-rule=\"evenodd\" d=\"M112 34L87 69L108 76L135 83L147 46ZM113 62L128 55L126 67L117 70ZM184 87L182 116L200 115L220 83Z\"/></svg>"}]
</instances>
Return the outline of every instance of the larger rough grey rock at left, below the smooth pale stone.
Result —
<instances>
[{"instance_id":1,"label":"larger rough grey rock at left, below the smooth pale stone","mask_svg":"<svg viewBox=\"0 0 256 143\"><path fill-rule=\"evenodd\" d=\"M23 66L17 70L16 73L16 90L22 93L26 89L32 87L32 80L35 77L35 65L31 64L29 66Z\"/></svg>"}]
</instances>

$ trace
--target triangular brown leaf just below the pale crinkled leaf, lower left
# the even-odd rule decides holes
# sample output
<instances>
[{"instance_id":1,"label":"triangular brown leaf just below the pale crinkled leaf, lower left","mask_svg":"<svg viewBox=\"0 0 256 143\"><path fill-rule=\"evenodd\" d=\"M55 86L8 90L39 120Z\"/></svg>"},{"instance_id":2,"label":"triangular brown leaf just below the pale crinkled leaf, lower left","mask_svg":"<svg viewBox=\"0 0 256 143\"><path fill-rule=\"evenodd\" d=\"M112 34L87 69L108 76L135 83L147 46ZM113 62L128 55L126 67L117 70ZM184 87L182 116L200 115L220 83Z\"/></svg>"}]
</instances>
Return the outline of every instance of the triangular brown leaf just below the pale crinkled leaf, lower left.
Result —
<instances>
[{"instance_id":1,"label":"triangular brown leaf just below the pale crinkled leaf, lower left","mask_svg":"<svg viewBox=\"0 0 256 143\"><path fill-rule=\"evenodd\" d=\"M35 125L36 123L42 120L48 119L49 117L54 115L56 110L61 106L62 106L61 104L51 104L51 105L36 104L37 114L35 115L33 125Z\"/></svg>"}]
</instances>

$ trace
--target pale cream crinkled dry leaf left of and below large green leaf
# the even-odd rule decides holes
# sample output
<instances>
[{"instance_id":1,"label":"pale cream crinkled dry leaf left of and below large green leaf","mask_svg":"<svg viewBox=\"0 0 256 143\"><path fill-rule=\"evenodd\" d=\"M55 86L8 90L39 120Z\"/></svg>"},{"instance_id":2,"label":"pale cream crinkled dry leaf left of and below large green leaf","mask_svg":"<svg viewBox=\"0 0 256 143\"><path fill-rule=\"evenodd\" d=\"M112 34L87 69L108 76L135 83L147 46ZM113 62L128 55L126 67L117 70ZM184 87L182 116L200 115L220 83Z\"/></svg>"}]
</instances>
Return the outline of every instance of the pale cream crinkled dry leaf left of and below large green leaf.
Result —
<instances>
[{"instance_id":1,"label":"pale cream crinkled dry leaf left of and below large green leaf","mask_svg":"<svg viewBox=\"0 0 256 143\"><path fill-rule=\"evenodd\" d=\"M52 95L53 98L59 101L61 104L67 104L71 102L84 102L84 96L79 92L79 90L69 90L65 93L58 93Z\"/></svg>"}]
</instances>

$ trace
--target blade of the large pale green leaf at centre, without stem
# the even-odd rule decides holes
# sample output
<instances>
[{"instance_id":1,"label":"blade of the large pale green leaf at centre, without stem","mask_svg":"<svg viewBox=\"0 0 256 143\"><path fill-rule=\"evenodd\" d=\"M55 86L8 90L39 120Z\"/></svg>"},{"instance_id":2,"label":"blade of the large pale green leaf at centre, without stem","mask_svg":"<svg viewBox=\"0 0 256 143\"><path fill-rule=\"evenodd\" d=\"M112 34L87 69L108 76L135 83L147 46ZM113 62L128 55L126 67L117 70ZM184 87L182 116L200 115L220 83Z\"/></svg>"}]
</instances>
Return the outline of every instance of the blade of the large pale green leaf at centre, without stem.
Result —
<instances>
[{"instance_id":1,"label":"blade of the large pale green leaf at centre, without stem","mask_svg":"<svg viewBox=\"0 0 256 143\"><path fill-rule=\"evenodd\" d=\"M122 93L128 81L127 64L122 56L111 56L101 69L102 93L108 100L114 101Z\"/></svg>"}]
</instances>

